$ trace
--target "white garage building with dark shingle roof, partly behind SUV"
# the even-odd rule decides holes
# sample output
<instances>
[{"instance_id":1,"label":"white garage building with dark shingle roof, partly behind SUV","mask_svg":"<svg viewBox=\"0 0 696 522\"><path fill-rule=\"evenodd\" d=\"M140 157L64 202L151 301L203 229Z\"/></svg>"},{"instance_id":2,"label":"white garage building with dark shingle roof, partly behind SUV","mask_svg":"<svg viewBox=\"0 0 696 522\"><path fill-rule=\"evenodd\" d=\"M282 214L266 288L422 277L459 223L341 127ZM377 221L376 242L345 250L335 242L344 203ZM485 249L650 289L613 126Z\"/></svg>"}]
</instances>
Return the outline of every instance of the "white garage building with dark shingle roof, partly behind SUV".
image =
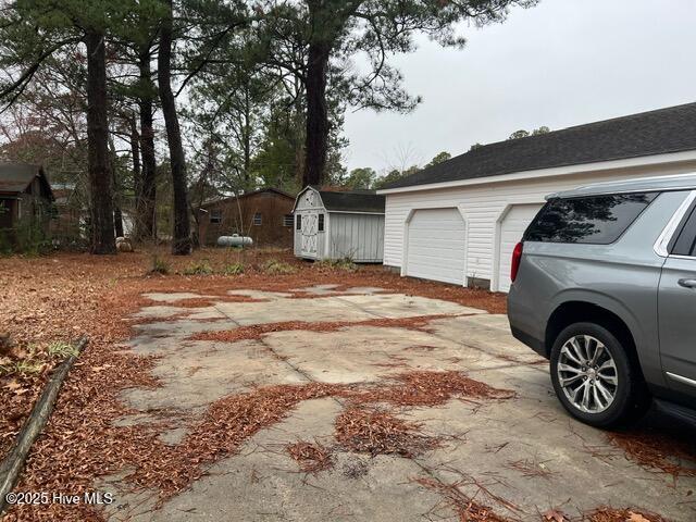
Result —
<instances>
[{"instance_id":1,"label":"white garage building with dark shingle roof, partly behind SUV","mask_svg":"<svg viewBox=\"0 0 696 522\"><path fill-rule=\"evenodd\" d=\"M384 264L495 291L551 192L696 171L696 103L475 148L399 179L386 196Z\"/></svg>"}]
</instances>

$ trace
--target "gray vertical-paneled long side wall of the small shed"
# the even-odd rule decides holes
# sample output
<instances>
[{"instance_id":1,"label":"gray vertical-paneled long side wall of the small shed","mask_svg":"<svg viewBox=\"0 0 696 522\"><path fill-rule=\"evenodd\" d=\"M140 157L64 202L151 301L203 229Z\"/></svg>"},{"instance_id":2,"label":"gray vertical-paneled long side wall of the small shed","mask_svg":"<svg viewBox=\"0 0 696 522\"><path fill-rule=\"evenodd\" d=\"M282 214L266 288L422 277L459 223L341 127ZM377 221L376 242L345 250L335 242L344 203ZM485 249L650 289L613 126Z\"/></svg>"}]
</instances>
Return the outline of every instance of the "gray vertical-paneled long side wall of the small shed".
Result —
<instances>
[{"instance_id":1,"label":"gray vertical-paneled long side wall of the small shed","mask_svg":"<svg viewBox=\"0 0 696 522\"><path fill-rule=\"evenodd\" d=\"M331 213L328 257L350 258L363 263L382 262L384 216L382 214Z\"/></svg>"}]
</instances>

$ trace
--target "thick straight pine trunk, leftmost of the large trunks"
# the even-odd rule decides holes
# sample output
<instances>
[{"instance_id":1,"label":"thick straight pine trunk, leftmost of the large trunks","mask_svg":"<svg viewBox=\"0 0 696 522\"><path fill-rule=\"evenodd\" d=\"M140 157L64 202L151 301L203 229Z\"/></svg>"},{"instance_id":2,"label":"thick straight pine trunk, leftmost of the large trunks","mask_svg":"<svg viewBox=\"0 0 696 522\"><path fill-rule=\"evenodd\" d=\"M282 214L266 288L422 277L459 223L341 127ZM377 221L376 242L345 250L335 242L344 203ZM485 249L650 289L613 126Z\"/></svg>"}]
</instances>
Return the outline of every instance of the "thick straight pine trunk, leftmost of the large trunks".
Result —
<instances>
[{"instance_id":1,"label":"thick straight pine trunk, leftmost of the large trunks","mask_svg":"<svg viewBox=\"0 0 696 522\"><path fill-rule=\"evenodd\" d=\"M85 45L87 46L87 149L91 211L90 252L115 253L103 34L87 32Z\"/></svg>"}]
</instances>

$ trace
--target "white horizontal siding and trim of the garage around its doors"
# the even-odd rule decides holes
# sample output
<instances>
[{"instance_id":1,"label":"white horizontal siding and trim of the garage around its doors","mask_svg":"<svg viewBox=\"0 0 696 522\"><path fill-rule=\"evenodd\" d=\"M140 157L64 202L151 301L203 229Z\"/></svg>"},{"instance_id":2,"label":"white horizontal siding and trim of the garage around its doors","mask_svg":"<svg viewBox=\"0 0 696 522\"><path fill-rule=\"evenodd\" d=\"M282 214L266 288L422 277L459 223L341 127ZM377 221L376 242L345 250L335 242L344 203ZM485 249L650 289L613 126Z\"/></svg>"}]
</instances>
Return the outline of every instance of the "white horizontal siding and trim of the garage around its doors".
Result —
<instances>
[{"instance_id":1,"label":"white horizontal siding and trim of the garage around its doors","mask_svg":"<svg viewBox=\"0 0 696 522\"><path fill-rule=\"evenodd\" d=\"M459 207L467 216L467 276L490 279L496 222L509 204L543 202L550 192L588 183L694 172L696 162L643 166L542 179L498 182L386 195L384 264L401 266L406 220L413 209Z\"/></svg>"}]
</instances>

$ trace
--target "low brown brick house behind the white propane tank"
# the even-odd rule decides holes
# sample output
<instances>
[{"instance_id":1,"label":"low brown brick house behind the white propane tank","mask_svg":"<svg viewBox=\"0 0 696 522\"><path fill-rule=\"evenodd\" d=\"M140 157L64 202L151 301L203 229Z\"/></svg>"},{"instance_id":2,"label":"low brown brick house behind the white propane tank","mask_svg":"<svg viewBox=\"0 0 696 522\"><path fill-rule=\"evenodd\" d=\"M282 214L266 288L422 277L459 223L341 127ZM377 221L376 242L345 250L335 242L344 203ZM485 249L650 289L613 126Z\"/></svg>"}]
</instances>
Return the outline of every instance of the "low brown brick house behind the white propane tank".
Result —
<instances>
[{"instance_id":1,"label":"low brown brick house behind the white propane tank","mask_svg":"<svg viewBox=\"0 0 696 522\"><path fill-rule=\"evenodd\" d=\"M256 245L293 245L295 198L277 188L261 188L239 197L222 198L198 209L201 245L216 245L220 236L249 236Z\"/></svg>"}]
</instances>

